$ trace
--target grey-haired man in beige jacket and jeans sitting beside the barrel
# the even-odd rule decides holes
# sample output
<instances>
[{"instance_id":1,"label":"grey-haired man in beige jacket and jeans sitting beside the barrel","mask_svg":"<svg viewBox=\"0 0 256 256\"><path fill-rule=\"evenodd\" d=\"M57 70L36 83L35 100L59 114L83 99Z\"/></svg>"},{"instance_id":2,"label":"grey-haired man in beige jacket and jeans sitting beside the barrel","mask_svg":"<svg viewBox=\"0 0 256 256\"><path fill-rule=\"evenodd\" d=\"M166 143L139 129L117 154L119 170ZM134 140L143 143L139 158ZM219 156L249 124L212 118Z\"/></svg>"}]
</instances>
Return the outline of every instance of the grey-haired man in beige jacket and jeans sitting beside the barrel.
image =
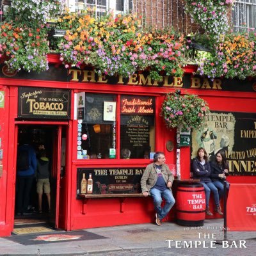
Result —
<instances>
[{"instance_id":1,"label":"grey-haired man in beige jacket and jeans sitting beside the barrel","mask_svg":"<svg viewBox=\"0 0 256 256\"><path fill-rule=\"evenodd\" d=\"M156 210L156 225L160 226L163 218L170 212L175 199L172 195L173 174L167 164L165 164L163 152L154 154L154 163L148 164L141 177L141 191L146 197L151 195L154 200ZM163 199L164 207L161 207Z\"/></svg>"}]
</instances>

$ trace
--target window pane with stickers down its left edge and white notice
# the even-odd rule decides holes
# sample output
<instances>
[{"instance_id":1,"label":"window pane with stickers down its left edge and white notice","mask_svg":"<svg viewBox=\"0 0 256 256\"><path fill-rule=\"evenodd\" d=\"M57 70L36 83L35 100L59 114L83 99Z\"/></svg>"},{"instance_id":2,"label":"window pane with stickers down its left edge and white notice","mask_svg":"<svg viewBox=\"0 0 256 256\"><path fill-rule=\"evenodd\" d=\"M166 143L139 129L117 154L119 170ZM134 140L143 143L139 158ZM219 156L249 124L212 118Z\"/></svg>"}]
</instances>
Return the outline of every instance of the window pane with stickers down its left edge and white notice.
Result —
<instances>
[{"instance_id":1,"label":"window pane with stickers down its left edge and white notice","mask_svg":"<svg viewBox=\"0 0 256 256\"><path fill-rule=\"evenodd\" d=\"M115 158L116 96L77 93L77 159Z\"/></svg>"}]
</instances>

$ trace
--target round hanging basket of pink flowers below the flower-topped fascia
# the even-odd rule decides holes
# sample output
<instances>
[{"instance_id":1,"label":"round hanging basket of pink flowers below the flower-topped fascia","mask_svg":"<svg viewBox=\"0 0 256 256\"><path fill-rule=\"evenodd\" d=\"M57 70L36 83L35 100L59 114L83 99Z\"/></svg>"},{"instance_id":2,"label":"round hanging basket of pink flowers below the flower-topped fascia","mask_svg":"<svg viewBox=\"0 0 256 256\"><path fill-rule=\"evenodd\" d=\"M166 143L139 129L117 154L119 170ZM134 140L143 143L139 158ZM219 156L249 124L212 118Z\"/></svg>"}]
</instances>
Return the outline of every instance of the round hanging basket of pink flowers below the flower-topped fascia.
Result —
<instances>
[{"instance_id":1,"label":"round hanging basket of pink flowers below the flower-topped fascia","mask_svg":"<svg viewBox=\"0 0 256 256\"><path fill-rule=\"evenodd\" d=\"M209 113L207 105L207 102L197 95L180 95L180 92L176 91L166 94L160 115L169 129L202 129Z\"/></svg>"}]
</instances>

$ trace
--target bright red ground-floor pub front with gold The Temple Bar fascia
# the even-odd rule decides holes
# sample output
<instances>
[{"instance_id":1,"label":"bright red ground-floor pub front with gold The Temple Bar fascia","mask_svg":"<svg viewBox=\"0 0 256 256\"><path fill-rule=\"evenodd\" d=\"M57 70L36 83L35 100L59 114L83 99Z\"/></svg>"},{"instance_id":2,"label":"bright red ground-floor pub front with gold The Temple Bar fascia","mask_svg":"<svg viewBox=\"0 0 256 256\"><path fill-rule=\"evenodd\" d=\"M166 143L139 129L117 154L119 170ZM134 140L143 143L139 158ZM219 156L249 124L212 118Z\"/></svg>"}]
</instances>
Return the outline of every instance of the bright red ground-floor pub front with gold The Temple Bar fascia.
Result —
<instances>
[{"instance_id":1,"label":"bright red ground-floor pub front with gold The Temple Bar fascia","mask_svg":"<svg viewBox=\"0 0 256 256\"><path fill-rule=\"evenodd\" d=\"M140 178L156 151L164 152L177 174L176 131L167 129L159 115L164 95L175 90L199 95L211 109L204 140L192 131L180 143L180 179L191 179L191 157L204 145L209 154L228 147L230 183L256 182L255 80L211 81L193 76L187 67L184 77L156 82L142 73L125 79L58 64L52 56L49 70L40 74L6 74L1 66L0 236L11 234L17 217L16 156L24 132L51 154L54 227L153 223L152 199L141 195ZM165 221L174 220L175 207Z\"/></svg>"}]
</instances>

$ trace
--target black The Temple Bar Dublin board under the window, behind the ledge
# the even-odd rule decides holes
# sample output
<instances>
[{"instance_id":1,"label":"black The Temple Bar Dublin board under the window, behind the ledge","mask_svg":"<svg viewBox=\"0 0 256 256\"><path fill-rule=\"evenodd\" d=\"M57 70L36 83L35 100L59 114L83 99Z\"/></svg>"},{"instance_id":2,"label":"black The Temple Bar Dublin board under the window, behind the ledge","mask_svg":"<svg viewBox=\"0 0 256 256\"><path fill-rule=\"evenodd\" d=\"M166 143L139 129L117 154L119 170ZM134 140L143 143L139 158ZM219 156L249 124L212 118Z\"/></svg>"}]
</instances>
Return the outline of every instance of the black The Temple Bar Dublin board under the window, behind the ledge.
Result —
<instances>
[{"instance_id":1,"label":"black The Temple Bar Dublin board under the window, behind the ledge","mask_svg":"<svg viewBox=\"0 0 256 256\"><path fill-rule=\"evenodd\" d=\"M86 180L92 173L93 194L141 193L140 180L144 168L77 168L77 198L81 191L83 173Z\"/></svg>"}]
</instances>

